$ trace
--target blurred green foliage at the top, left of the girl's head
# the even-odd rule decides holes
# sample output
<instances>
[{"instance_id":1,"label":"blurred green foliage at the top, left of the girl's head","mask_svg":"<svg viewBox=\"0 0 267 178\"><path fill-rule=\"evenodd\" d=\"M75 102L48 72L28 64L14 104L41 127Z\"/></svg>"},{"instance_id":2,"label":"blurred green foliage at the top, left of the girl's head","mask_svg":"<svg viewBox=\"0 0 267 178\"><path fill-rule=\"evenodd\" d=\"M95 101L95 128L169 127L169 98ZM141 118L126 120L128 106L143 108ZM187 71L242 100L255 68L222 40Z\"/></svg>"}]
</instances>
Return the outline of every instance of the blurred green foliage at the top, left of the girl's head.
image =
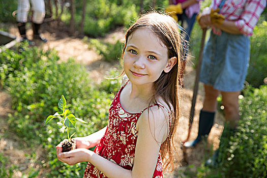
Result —
<instances>
[{"instance_id":1,"label":"blurred green foliage at the top, left of the girl's head","mask_svg":"<svg viewBox=\"0 0 267 178\"><path fill-rule=\"evenodd\" d=\"M82 1L76 2L75 23L78 28L82 16ZM84 34L91 37L105 36L116 26L128 25L137 18L138 6L132 1L91 1L86 5ZM70 20L70 12L66 11L62 20Z\"/></svg>"}]
</instances>

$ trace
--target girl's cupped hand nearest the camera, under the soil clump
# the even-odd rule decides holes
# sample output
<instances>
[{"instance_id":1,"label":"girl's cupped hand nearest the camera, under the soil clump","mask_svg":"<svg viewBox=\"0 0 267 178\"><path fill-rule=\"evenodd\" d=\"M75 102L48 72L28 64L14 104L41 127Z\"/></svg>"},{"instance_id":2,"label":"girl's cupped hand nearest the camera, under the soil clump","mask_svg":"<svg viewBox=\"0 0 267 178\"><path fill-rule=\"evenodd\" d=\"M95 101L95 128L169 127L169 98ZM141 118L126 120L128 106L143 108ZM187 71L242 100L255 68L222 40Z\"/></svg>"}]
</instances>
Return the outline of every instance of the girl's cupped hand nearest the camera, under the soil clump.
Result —
<instances>
[{"instance_id":1,"label":"girl's cupped hand nearest the camera, under the soil clump","mask_svg":"<svg viewBox=\"0 0 267 178\"><path fill-rule=\"evenodd\" d=\"M94 152L87 149L75 149L69 152L62 153L62 147L56 147L57 159L69 165L89 161L90 157L94 154Z\"/></svg>"}]
</instances>

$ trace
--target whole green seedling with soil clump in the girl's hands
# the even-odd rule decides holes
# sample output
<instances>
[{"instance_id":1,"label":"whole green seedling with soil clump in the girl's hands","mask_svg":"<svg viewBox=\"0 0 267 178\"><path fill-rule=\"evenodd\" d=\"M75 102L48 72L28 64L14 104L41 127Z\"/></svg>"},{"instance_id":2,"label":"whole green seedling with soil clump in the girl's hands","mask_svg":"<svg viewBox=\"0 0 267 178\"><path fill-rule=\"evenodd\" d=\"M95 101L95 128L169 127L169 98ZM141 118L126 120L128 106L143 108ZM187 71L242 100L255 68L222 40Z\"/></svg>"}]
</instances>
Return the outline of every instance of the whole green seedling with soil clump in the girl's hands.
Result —
<instances>
[{"instance_id":1,"label":"whole green seedling with soil clump in the girl's hands","mask_svg":"<svg viewBox=\"0 0 267 178\"><path fill-rule=\"evenodd\" d=\"M69 128L75 128L76 120L86 124L85 121L81 120L78 117L75 117L69 109L66 108L67 101L64 98L64 96L61 96L60 101L58 101L58 108L60 108L61 111L56 112L54 115L49 115L46 118L45 125L49 123L53 118L59 118L60 122L57 122L58 125L62 126L60 131L64 133L67 131L68 139L64 140L64 143L62 144L62 152L69 152L71 150L74 150L76 148L76 143L71 137L75 134L75 132L70 136L69 135Z\"/></svg>"}]
</instances>

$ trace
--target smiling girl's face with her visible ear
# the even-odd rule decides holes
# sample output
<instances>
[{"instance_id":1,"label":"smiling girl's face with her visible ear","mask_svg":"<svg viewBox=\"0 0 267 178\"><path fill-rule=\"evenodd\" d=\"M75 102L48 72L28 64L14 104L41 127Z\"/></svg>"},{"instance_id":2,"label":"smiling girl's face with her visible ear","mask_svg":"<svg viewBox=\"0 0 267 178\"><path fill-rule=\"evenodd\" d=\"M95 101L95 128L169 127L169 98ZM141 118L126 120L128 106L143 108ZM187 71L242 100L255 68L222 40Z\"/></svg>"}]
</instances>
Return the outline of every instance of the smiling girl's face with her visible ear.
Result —
<instances>
[{"instance_id":1,"label":"smiling girl's face with her visible ear","mask_svg":"<svg viewBox=\"0 0 267 178\"><path fill-rule=\"evenodd\" d=\"M148 28L138 28L129 36L124 71L133 84L153 84L163 71L169 72L175 63L176 57L168 59L167 47Z\"/></svg>"}]
</instances>

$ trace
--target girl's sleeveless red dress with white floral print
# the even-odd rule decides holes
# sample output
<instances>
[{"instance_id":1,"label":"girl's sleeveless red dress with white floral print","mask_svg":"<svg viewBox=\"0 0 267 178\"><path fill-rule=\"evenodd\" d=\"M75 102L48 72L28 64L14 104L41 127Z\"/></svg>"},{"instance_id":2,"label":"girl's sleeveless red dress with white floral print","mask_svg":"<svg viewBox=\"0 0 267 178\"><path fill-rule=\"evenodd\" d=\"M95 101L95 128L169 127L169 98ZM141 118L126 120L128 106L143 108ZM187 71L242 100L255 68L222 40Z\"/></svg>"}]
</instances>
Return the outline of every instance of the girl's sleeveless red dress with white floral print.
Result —
<instances>
[{"instance_id":1,"label":"girl's sleeveless red dress with white floral print","mask_svg":"<svg viewBox=\"0 0 267 178\"><path fill-rule=\"evenodd\" d=\"M156 104L145 108L139 113L129 113L125 111L120 103L120 93L124 86L120 91L118 91L113 99L108 113L109 121L106 132L99 144L96 146L94 152L125 169L132 170L138 135L136 122L144 110L155 106ZM83 177L98 178L107 176L88 162ZM153 177L163 177L163 167L160 153Z\"/></svg>"}]
</instances>

